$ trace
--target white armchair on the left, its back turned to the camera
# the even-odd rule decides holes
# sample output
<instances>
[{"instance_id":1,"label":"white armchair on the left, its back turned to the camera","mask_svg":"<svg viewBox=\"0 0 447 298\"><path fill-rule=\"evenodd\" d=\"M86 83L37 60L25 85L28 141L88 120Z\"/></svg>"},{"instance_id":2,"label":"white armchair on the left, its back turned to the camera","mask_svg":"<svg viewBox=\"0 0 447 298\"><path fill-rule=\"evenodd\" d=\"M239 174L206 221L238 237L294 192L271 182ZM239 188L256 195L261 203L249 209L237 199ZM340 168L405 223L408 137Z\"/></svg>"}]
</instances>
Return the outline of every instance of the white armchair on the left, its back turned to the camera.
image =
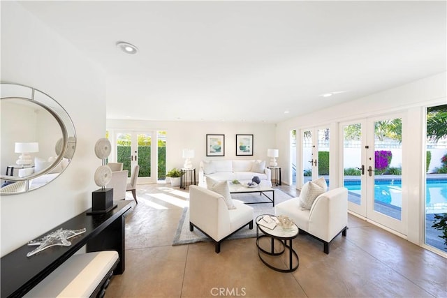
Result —
<instances>
[{"instance_id":1,"label":"white armchair on the left, its back turned to the camera","mask_svg":"<svg viewBox=\"0 0 447 298\"><path fill-rule=\"evenodd\" d=\"M200 186L189 186L189 230L196 227L216 244L220 253L221 242L249 225L253 229L253 208L233 200L236 209L228 209L223 196Z\"/></svg>"}]
</instances>

